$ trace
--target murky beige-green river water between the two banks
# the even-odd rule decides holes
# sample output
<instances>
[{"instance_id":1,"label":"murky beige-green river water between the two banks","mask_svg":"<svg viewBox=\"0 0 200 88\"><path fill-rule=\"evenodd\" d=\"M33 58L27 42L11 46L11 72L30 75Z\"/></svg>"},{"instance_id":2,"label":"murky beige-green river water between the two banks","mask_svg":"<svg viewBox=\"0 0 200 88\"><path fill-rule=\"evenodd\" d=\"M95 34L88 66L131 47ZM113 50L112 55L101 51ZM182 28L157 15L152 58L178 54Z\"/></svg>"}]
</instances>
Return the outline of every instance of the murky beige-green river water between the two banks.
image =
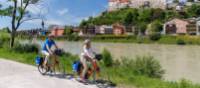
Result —
<instances>
[{"instance_id":1,"label":"murky beige-green river water between the two banks","mask_svg":"<svg viewBox=\"0 0 200 88\"><path fill-rule=\"evenodd\" d=\"M42 41L38 42L42 44ZM60 48L73 54L80 54L82 42L57 41ZM94 50L108 49L115 59L152 55L166 70L166 80L182 78L200 83L200 46L178 46L158 44L92 43Z\"/></svg>"}]
</instances>

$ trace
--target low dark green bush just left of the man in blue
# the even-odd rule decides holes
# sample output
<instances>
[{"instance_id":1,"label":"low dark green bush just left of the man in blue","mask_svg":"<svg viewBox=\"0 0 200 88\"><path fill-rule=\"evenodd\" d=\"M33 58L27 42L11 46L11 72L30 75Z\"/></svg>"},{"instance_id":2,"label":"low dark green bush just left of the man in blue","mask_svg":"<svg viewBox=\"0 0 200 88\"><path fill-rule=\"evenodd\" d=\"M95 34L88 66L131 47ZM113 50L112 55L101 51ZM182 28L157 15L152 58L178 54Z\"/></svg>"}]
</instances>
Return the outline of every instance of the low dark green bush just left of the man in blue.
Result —
<instances>
[{"instance_id":1,"label":"low dark green bush just left of the man in blue","mask_svg":"<svg viewBox=\"0 0 200 88\"><path fill-rule=\"evenodd\" d=\"M33 53L33 52L38 53L39 47L35 44L16 43L12 50L19 53Z\"/></svg>"}]
</instances>

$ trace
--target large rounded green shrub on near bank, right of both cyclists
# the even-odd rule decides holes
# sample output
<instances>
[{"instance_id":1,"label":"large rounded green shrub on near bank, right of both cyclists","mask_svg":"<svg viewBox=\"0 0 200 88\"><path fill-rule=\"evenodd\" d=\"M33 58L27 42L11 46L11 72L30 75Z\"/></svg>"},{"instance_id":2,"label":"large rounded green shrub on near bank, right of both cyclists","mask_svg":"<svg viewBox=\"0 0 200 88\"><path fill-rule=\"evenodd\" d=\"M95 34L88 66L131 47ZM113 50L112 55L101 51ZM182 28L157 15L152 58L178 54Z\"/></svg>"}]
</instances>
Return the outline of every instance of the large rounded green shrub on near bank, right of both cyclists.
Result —
<instances>
[{"instance_id":1,"label":"large rounded green shrub on near bank, right of both cyclists","mask_svg":"<svg viewBox=\"0 0 200 88\"><path fill-rule=\"evenodd\" d=\"M152 56L137 57L133 61L133 68L138 75L146 75L152 78L162 78L164 70L160 63Z\"/></svg>"}]
</instances>

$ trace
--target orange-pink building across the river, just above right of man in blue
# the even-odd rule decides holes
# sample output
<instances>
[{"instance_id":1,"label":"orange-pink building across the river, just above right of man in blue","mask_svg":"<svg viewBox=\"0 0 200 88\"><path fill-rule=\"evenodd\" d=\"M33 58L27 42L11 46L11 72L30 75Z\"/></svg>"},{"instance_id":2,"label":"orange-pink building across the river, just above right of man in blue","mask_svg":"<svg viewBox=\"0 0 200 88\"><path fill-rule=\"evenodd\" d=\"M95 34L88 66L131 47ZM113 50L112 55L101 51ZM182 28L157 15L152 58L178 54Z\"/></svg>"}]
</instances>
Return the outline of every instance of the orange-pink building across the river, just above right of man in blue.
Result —
<instances>
[{"instance_id":1,"label":"orange-pink building across the river, just above right of man in blue","mask_svg":"<svg viewBox=\"0 0 200 88\"><path fill-rule=\"evenodd\" d=\"M54 27L52 27L52 29L50 29L51 30L51 34L53 35L53 36L55 36L55 37L60 37L60 36L63 36L64 35L64 30L65 30L65 28L64 27L62 27L62 26L54 26Z\"/></svg>"}]
</instances>

